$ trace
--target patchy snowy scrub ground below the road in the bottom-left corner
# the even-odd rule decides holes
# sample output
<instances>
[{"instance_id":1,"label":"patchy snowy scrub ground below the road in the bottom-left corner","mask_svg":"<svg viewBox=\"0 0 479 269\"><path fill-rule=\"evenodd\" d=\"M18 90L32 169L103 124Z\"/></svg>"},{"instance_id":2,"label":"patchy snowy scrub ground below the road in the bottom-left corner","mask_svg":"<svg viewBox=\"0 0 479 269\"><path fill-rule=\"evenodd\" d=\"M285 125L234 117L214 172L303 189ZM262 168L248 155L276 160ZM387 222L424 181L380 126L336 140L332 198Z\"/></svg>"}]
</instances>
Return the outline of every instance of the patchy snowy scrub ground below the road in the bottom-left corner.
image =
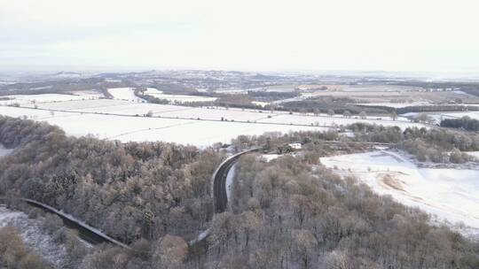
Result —
<instances>
[{"instance_id":1,"label":"patchy snowy scrub ground below the road in the bottom-left corner","mask_svg":"<svg viewBox=\"0 0 479 269\"><path fill-rule=\"evenodd\" d=\"M51 236L43 232L39 219L28 219L25 213L0 205L0 227L7 226L16 227L26 245L56 268L67 267L69 257L65 246L53 242Z\"/></svg>"}]
</instances>

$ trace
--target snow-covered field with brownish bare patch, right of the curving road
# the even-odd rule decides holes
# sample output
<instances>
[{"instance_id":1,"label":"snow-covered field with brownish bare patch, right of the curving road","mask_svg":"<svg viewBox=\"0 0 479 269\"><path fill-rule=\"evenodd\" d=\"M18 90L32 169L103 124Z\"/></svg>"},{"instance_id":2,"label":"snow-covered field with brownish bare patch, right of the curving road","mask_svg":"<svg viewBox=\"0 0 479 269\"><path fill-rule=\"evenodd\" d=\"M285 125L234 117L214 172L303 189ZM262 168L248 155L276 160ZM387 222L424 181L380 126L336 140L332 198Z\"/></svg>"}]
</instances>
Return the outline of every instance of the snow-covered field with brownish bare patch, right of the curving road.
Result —
<instances>
[{"instance_id":1,"label":"snow-covered field with brownish bare patch, right of the curving road","mask_svg":"<svg viewBox=\"0 0 479 269\"><path fill-rule=\"evenodd\" d=\"M479 236L479 171L419 168L394 151L321 158L340 174L352 174L381 195L419 207L464 234Z\"/></svg>"}]
</instances>

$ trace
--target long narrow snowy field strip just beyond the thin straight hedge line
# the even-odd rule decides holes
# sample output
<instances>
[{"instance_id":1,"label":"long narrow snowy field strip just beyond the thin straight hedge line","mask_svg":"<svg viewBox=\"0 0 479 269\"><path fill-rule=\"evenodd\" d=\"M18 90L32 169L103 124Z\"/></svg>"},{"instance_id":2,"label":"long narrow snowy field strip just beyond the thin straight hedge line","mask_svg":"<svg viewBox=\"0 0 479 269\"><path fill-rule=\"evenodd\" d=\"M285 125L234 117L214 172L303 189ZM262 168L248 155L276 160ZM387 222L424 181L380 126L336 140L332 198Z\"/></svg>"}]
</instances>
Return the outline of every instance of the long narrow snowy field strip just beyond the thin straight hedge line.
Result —
<instances>
[{"instance_id":1,"label":"long narrow snowy field strip just beyond the thin straight hedge line","mask_svg":"<svg viewBox=\"0 0 479 269\"><path fill-rule=\"evenodd\" d=\"M28 105L33 107L33 105ZM226 121L245 121L251 123L274 123L286 125L318 125L319 126L341 126L354 122L368 122L372 124L384 126L423 127L421 124L411 123L408 119L399 117L392 120L389 117L369 116L366 119L359 119L353 116L349 119L343 118L342 115L334 115L334 117L326 114L298 114L290 115L287 111L258 111L258 110L242 110L242 109L225 109L224 107L190 107L171 104L144 104L132 103L124 100L84 100L72 102L57 102L49 104L38 104L39 109L53 111L78 111L89 113L106 113L118 115L140 116L145 115L148 111L153 113L154 117L175 118L175 119L208 119Z\"/></svg>"}]
</instances>

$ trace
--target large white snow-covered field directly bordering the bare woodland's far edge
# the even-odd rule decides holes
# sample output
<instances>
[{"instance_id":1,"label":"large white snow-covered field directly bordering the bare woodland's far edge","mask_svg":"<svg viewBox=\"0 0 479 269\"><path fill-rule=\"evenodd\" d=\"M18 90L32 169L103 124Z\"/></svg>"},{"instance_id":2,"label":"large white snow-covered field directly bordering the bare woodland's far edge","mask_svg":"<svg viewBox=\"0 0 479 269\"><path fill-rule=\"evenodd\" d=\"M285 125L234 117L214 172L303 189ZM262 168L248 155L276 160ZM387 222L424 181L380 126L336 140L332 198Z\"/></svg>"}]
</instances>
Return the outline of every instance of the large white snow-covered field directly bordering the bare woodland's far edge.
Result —
<instances>
[{"instance_id":1,"label":"large white snow-covered field directly bordering the bare woodland's far edge","mask_svg":"<svg viewBox=\"0 0 479 269\"><path fill-rule=\"evenodd\" d=\"M183 107L185 108L185 107ZM147 110L146 110L147 111ZM163 119L103 115L77 111L51 111L0 106L0 114L27 119L45 120L62 127L68 135L95 135L100 139L122 142L164 141L197 146L215 142L231 142L238 135L262 135L264 132L327 130L325 127L303 127L198 119ZM194 115L194 114L192 114ZM219 119L219 118L218 118Z\"/></svg>"}]
</instances>

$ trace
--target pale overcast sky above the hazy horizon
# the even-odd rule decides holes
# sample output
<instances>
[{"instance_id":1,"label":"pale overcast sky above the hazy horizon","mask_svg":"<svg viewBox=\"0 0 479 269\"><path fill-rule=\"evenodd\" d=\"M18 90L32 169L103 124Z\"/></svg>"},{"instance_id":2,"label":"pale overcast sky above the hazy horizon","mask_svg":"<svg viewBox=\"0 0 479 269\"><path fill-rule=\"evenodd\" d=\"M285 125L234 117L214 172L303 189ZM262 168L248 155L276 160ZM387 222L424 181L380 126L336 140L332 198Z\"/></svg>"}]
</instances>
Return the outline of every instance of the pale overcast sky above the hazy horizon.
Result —
<instances>
[{"instance_id":1,"label":"pale overcast sky above the hazy horizon","mask_svg":"<svg viewBox=\"0 0 479 269\"><path fill-rule=\"evenodd\" d=\"M476 0L0 0L0 70L479 71Z\"/></svg>"}]
</instances>

